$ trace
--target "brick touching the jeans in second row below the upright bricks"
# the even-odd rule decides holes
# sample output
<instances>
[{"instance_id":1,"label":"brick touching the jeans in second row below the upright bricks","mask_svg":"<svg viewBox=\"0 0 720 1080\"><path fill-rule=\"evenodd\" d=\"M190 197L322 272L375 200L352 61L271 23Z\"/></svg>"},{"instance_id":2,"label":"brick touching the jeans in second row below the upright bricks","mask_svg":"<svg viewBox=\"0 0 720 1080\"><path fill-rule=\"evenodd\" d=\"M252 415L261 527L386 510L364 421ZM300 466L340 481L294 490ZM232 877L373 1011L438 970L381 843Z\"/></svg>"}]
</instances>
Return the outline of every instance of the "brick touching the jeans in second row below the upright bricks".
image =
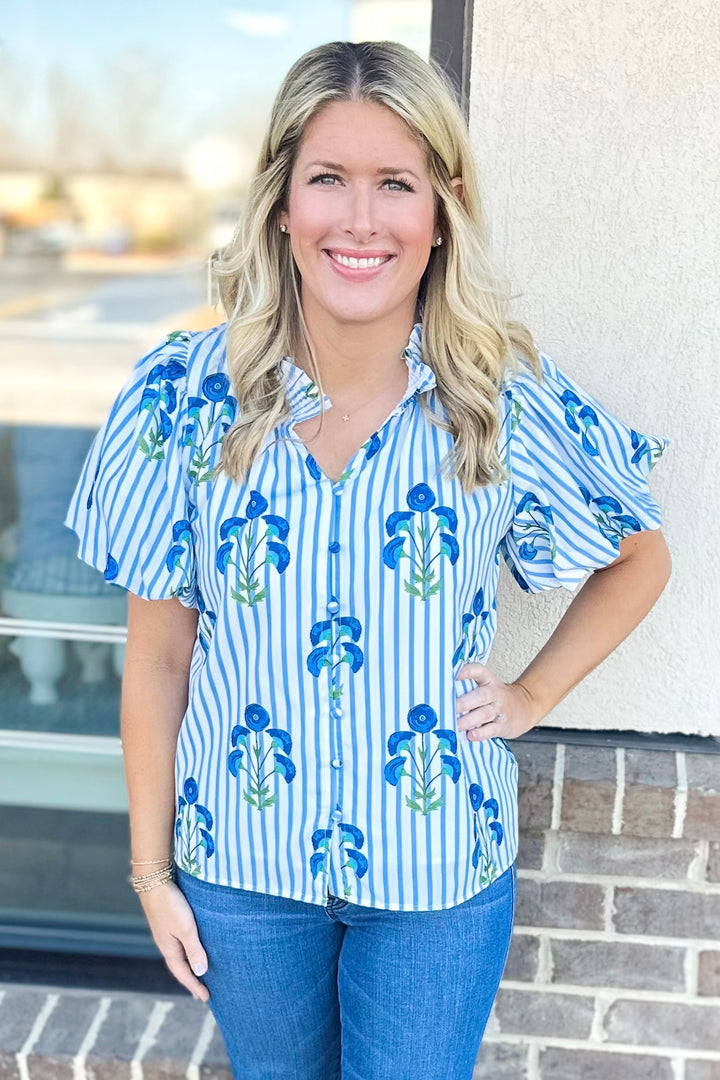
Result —
<instances>
[{"instance_id":1,"label":"brick touching the jeans in second row below the upright bricks","mask_svg":"<svg viewBox=\"0 0 720 1080\"><path fill-rule=\"evenodd\" d=\"M520 927L602 930L603 897L598 885L518 878L515 920Z\"/></svg>"}]
</instances>

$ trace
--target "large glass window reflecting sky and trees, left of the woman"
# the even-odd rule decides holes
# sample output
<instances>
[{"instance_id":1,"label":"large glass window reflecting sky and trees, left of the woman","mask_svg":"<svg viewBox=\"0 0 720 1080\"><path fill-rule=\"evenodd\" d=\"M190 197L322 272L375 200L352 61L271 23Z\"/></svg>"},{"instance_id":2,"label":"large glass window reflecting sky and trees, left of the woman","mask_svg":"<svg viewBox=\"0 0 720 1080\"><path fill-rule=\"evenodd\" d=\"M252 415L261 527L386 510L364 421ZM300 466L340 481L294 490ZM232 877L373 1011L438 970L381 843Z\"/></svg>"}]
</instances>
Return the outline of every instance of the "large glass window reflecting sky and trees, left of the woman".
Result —
<instances>
[{"instance_id":1,"label":"large glass window reflecting sky and trees, left of the woman","mask_svg":"<svg viewBox=\"0 0 720 1080\"><path fill-rule=\"evenodd\" d=\"M11 5L0 41L0 924L137 912L126 596L63 524L93 434L153 343L221 321L206 262L290 64L338 39L430 52L431 0L71 6Z\"/></svg>"}]
</instances>

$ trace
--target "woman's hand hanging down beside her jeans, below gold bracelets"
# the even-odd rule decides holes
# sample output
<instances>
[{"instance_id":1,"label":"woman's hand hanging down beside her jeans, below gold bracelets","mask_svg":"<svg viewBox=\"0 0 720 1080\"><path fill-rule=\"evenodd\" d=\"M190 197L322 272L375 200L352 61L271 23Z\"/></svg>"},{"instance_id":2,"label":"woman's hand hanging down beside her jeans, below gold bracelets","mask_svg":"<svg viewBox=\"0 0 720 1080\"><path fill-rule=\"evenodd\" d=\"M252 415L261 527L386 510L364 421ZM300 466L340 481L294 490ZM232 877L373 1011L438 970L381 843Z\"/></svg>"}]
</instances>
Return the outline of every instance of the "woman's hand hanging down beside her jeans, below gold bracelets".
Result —
<instances>
[{"instance_id":1,"label":"woman's hand hanging down beside her jeans, below gold bracelets","mask_svg":"<svg viewBox=\"0 0 720 1080\"><path fill-rule=\"evenodd\" d=\"M192 908L173 881L138 893L142 910L171 972L198 1001L209 993L198 975L207 971L207 955L200 943Z\"/></svg>"}]
</instances>

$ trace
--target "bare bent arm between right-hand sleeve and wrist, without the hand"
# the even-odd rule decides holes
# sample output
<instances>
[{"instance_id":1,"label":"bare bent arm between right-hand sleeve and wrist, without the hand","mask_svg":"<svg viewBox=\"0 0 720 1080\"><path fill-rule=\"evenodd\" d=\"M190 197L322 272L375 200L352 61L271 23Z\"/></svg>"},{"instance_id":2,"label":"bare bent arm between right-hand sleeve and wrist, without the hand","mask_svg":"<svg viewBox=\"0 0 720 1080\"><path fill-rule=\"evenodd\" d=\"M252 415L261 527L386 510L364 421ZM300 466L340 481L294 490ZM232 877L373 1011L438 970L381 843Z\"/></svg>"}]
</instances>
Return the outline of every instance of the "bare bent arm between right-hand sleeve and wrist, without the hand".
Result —
<instances>
[{"instance_id":1,"label":"bare bent arm between right-hand sleeve and wrist, without the hand","mask_svg":"<svg viewBox=\"0 0 720 1080\"><path fill-rule=\"evenodd\" d=\"M634 538L629 552L590 575L545 646L516 679L531 699L533 723L610 656L665 588L670 561L662 535Z\"/></svg>"}]
</instances>

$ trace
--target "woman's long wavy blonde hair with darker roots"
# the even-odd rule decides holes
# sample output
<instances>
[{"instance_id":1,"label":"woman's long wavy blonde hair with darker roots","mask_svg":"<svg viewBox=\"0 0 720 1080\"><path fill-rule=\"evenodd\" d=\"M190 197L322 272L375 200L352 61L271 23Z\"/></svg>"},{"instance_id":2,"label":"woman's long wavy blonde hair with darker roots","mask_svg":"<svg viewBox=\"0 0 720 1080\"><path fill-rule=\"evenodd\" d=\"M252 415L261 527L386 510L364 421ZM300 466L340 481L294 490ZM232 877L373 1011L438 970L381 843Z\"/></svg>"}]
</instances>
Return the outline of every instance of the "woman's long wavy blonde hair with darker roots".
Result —
<instances>
[{"instance_id":1,"label":"woman's long wavy blonde hair with darker roots","mask_svg":"<svg viewBox=\"0 0 720 1080\"><path fill-rule=\"evenodd\" d=\"M391 41L336 41L290 68L272 109L257 170L230 244L214 265L228 319L230 378L239 418L220 469L242 481L264 440L289 417L279 364L300 348L324 393L302 314L300 275L277 214L287 206L293 166L308 121L335 102L373 102L405 122L425 149L441 247L433 247L418 293L422 359L433 368L444 414L420 405L453 437L443 471L464 490L499 483L498 395L517 353L540 375L532 337L507 318L508 297L490 265L477 168L454 93L432 62ZM451 185L461 177L463 200ZM322 416L321 416L322 424ZM316 436L315 436L316 437Z\"/></svg>"}]
</instances>

